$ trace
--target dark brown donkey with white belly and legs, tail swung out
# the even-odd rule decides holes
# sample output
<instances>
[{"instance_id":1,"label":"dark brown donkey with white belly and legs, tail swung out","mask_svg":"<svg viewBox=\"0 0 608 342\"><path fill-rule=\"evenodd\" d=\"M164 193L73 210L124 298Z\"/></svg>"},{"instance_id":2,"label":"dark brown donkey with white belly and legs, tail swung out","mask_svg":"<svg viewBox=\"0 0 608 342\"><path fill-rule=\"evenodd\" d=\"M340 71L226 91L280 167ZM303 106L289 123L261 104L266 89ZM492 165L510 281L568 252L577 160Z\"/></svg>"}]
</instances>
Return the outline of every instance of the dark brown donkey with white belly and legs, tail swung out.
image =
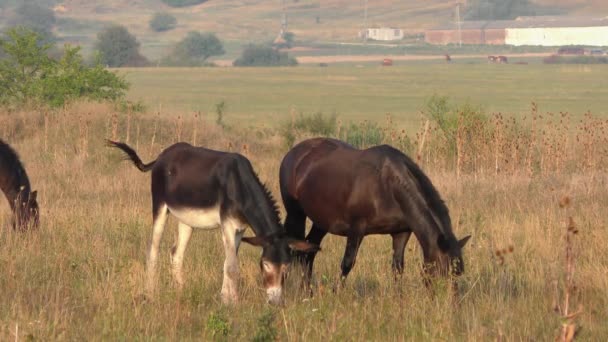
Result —
<instances>
[{"instance_id":1,"label":"dark brown donkey with white belly and legs, tail swung out","mask_svg":"<svg viewBox=\"0 0 608 342\"><path fill-rule=\"evenodd\" d=\"M280 223L276 202L260 182L247 158L186 143L174 144L156 160L144 164L128 145L107 141L126 154L142 172L152 170L153 235L148 251L146 290L154 292L158 249L168 213L178 220L177 245L171 249L173 278L184 285L184 252L192 228L221 228L226 259L221 296L224 303L238 300L237 253L241 241L263 247L260 268L268 302L281 302L291 250L313 251L304 241L288 238ZM255 237L243 237L250 227Z\"/></svg>"}]
</instances>

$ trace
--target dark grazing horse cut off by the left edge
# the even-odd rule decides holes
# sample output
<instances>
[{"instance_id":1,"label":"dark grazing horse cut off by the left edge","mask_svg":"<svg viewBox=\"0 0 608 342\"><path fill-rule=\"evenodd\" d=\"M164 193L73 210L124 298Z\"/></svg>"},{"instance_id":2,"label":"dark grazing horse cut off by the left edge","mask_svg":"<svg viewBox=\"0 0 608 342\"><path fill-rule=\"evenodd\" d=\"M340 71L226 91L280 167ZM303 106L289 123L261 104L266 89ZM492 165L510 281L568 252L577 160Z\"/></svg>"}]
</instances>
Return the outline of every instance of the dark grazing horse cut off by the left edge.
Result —
<instances>
[{"instance_id":1,"label":"dark grazing horse cut off by the left edge","mask_svg":"<svg viewBox=\"0 0 608 342\"><path fill-rule=\"evenodd\" d=\"M0 140L0 189L13 211L13 229L38 228L40 214L36 191L31 191L30 180L17 153Z\"/></svg>"}]
</instances>

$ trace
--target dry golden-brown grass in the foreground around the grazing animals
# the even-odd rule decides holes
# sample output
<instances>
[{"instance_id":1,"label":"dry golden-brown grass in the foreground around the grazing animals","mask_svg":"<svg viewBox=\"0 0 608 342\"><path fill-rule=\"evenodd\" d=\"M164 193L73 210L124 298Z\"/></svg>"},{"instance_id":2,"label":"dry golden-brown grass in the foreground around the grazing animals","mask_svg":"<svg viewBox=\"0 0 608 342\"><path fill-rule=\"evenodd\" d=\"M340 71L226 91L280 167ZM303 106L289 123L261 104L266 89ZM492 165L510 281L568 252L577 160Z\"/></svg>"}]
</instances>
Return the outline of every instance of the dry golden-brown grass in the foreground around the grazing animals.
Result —
<instances>
[{"instance_id":1,"label":"dry golden-brown grass in the foreground around the grazing animals","mask_svg":"<svg viewBox=\"0 0 608 342\"><path fill-rule=\"evenodd\" d=\"M177 140L238 151L278 196L285 150L276 131L225 130L203 117L169 120L89 104L0 113L0 137L20 152L42 208L40 230L16 234L6 228L6 201L0 203L0 340L243 340L261 336L259 321L269 322L283 341L552 340L561 329L553 312L555 282L563 289L566 275L567 222L558 206L564 195L571 199L567 217L578 229L578 287L569 299L571 307L584 308L576 317L578 336L601 340L608 336L605 123L588 116L560 126L560 119L535 111L525 122L497 116L459 143L458 181L457 160L441 150L444 137L432 125L422 124L410 138L450 208L456 234L473 235L457 306L441 284L437 296L429 296L414 240L405 275L393 282L386 236L365 239L346 288L333 294L345 241L330 236L315 265L317 295L307 300L292 274L287 303L277 309L264 304L260 251L249 246L240 253L242 302L220 304L217 231L194 234L187 283L177 293L168 272L175 221L161 247L159 296L139 302L151 234L149 175L103 147L107 137L128 141L144 160ZM404 139L392 127L387 133L395 145Z\"/></svg>"}]
</instances>

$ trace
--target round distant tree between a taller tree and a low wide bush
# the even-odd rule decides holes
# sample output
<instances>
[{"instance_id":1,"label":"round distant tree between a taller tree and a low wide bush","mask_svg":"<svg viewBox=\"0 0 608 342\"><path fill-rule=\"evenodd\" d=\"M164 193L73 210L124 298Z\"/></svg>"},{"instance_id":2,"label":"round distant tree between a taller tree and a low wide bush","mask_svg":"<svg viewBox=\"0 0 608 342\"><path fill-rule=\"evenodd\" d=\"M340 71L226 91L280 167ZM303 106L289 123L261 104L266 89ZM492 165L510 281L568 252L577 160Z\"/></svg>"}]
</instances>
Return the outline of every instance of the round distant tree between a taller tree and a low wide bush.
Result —
<instances>
[{"instance_id":1,"label":"round distant tree between a taller tree and a low wide bush","mask_svg":"<svg viewBox=\"0 0 608 342\"><path fill-rule=\"evenodd\" d=\"M211 56L225 53L222 42L213 33L189 32L178 42L169 57L169 64L200 66Z\"/></svg>"}]
</instances>

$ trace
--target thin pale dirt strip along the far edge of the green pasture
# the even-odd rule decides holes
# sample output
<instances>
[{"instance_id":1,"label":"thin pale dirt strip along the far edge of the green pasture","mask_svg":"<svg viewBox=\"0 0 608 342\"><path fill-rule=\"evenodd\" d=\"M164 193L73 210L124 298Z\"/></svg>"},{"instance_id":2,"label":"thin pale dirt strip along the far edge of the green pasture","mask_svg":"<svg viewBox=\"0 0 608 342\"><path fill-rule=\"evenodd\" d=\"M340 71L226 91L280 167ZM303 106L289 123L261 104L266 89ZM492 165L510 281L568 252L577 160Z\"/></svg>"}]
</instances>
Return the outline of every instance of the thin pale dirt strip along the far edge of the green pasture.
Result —
<instances>
[{"instance_id":1,"label":"thin pale dirt strip along the far edge of the green pasture","mask_svg":"<svg viewBox=\"0 0 608 342\"><path fill-rule=\"evenodd\" d=\"M514 53L514 54L505 54L507 58L518 58L518 57L546 57L549 56L549 53L540 52L540 53ZM486 59L488 57L485 55L451 55L454 59L463 59L463 58L481 58ZM317 64L317 63L338 63L338 62L373 62L377 61L380 63L384 58L390 58L393 61L425 61L425 60L443 60L445 57L443 55L365 55L365 56L351 56L351 55L341 55L341 56L299 56L297 57L298 62L300 64ZM219 66L232 66L232 60L228 59L219 59L214 61L215 64Z\"/></svg>"}]
</instances>

